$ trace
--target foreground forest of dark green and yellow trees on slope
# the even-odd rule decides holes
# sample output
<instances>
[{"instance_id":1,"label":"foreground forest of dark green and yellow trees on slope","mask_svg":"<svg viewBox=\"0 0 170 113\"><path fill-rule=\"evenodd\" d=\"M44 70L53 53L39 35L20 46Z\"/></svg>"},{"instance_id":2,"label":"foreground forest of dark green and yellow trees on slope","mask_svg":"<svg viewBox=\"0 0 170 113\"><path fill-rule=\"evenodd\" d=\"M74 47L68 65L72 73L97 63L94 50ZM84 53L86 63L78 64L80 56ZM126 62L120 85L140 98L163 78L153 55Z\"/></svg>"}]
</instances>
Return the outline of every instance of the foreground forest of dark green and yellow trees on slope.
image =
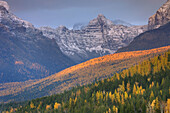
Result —
<instances>
[{"instance_id":1,"label":"foreground forest of dark green and yellow trees on slope","mask_svg":"<svg viewBox=\"0 0 170 113\"><path fill-rule=\"evenodd\" d=\"M170 113L170 51L113 77L4 112Z\"/></svg>"}]
</instances>

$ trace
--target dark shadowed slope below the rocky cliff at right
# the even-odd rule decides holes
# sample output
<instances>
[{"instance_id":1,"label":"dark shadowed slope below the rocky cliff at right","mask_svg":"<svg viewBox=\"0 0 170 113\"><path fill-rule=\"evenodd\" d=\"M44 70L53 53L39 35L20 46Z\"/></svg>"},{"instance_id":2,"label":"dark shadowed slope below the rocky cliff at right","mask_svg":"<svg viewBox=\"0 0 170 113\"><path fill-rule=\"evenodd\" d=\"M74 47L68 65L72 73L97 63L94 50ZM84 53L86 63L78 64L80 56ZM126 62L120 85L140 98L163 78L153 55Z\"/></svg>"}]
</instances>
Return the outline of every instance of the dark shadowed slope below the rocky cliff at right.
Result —
<instances>
[{"instance_id":1,"label":"dark shadowed slope below the rocky cliff at right","mask_svg":"<svg viewBox=\"0 0 170 113\"><path fill-rule=\"evenodd\" d=\"M150 30L134 38L126 47L118 49L117 53L126 51L148 50L170 45L170 22Z\"/></svg>"}]
</instances>

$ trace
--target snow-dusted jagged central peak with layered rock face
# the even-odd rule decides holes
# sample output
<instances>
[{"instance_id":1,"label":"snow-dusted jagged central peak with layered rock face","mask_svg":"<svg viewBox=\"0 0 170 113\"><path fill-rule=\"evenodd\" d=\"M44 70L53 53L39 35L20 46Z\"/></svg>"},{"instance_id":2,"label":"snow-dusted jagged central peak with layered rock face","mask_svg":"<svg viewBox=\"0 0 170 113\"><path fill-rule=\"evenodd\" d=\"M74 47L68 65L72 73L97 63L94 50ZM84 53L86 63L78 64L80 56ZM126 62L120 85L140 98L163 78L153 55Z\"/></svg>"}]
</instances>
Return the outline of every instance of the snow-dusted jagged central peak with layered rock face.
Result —
<instances>
[{"instance_id":1,"label":"snow-dusted jagged central peak with layered rock face","mask_svg":"<svg viewBox=\"0 0 170 113\"><path fill-rule=\"evenodd\" d=\"M64 26L40 28L44 36L54 38L61 51L76 62L114 53L146 29L147 26L114 25L101 14L81 30L69 30Z\"/></svg>"}]
</instances>

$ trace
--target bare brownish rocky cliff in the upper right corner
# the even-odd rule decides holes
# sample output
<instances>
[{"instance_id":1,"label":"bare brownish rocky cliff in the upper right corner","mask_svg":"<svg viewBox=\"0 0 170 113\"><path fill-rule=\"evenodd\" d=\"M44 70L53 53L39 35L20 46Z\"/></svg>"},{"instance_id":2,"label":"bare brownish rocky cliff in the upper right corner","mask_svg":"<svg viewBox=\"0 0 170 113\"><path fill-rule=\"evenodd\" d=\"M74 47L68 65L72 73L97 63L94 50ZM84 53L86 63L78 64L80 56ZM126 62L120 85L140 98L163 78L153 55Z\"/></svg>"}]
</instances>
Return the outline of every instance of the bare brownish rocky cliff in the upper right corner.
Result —
<instances>
[{"instance_id":1,"label":"bare brownish rocky cliff in the upper right corner","mask_svg":"<svg viewBox=\"0 0 170 113\"><path fill-rule=\"evenodd\" d=\"M170 22L170 0L168 0L159 10L149 18L148 29L156 29Z\"/></svg>"}]
</instances>

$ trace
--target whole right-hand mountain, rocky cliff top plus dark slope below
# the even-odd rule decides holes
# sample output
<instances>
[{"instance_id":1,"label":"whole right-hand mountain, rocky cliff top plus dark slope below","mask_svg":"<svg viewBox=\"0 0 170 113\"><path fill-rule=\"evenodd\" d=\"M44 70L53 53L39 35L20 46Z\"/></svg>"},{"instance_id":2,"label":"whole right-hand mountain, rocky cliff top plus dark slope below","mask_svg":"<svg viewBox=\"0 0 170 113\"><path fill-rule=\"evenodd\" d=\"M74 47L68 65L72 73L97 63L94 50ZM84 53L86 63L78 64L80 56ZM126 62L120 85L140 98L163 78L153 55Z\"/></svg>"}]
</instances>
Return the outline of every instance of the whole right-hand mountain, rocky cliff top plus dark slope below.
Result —
<instances>
[{"instance_id":1,"label":"whole right-hand mountain, rocky cliff top plus dark slope below","mask_svg":"<svg viewBox=\"0 0 170 113\"><path fill-rule=\"evenodd\" d=\"M119 52L147 50L170 45L170 0L149 18L149 31L142 33Z\"/></svg>"}]
</instances>

